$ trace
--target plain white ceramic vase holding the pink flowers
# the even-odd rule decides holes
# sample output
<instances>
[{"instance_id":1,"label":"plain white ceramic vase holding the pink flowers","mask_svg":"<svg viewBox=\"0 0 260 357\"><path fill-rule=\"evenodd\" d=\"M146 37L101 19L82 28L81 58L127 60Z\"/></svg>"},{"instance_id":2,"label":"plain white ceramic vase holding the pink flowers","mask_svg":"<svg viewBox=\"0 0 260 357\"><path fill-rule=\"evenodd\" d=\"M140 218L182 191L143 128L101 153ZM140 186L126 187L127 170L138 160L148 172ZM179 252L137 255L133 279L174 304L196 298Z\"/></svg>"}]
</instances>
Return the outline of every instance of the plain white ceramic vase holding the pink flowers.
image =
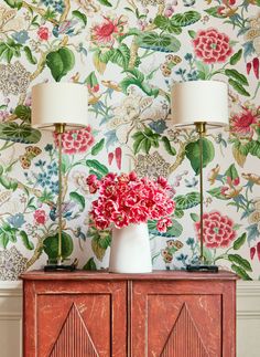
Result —
<instances>
[{"instance_id":1,"label":"plain white ceramic vase holding the pink flowers","mask_svg":"<svg viewBox=\"0 0 260 357\"><path fill-rule=\"evenodd\" d=\"M152 260L147 223L112 229L109 259L111 273L150 273Z\"/></svg>"}]
</instances>

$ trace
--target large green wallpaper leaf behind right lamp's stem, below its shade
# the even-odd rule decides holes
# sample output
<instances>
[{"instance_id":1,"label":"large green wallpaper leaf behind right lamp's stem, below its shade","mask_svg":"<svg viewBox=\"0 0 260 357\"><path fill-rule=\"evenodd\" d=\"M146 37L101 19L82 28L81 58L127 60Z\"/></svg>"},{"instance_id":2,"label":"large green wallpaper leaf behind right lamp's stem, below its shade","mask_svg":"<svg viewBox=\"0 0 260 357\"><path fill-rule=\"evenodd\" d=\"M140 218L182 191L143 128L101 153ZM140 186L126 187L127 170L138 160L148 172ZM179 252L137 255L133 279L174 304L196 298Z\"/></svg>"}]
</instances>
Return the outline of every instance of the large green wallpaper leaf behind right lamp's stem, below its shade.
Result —
<instances>
[{"instance_id":1,"label":"large green wallpaper leaf behind right lamp's stem, below its shade","mask_svg":"<svg viewBox=\"0 0 260 357\"><path fill-rule=\"evenodd\" d=\"M214 149L213 143L209 141L207 138L202 138L202 140L203 140L203 167L206 167L214 159L215 149ZM195 174L198 175L199 166L201 166L199 140L195 143L189 143L188 145L186 145L185 154Z\"/></svg>"}]
</instances>

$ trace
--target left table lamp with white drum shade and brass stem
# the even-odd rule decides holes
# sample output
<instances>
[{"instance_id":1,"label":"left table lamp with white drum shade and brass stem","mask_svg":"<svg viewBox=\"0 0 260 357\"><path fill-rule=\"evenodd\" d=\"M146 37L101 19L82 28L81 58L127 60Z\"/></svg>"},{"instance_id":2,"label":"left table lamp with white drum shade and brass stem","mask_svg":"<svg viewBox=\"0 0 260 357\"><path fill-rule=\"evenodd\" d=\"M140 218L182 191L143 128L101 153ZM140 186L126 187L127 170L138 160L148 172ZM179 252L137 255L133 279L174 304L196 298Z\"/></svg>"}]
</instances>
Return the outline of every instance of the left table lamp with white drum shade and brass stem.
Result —
<instances>
[{"instance_id":1,"label":"left table lamp with white drum shade and brass stem","mask_svg":"<svg viewBox=\"0 0 260 357\"><path fill-rule=\"evenodd\" d=\"M58 138L58 237L57 258L47 262L45 271L75 269L75 263L68 264L63 258L62 249L62 135L66 130L80 129L87 125L88 91L76 83L41 83L32 87L32 127L48 129Z\"/></svg>"}]
</instances>

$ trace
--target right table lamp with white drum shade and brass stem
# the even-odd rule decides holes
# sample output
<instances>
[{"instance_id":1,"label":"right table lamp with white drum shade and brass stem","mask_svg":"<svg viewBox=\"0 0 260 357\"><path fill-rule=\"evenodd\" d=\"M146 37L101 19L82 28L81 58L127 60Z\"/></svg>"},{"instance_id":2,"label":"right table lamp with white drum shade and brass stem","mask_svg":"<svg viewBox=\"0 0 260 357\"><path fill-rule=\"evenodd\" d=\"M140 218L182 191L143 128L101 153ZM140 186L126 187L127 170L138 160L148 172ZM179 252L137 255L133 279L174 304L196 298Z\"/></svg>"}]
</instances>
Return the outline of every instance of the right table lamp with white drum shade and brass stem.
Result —
<instances>
[{"instance_id":1,"label":"right table lamp with white drum shade and brass stem","mask_svg":"<svg viewBox=\"0 0 260 357\"><path fill-rule=\"evenodd\" d=\"M176 127L196 129L199 141L199 260L186 266L187 271L218 272L204 258L203 224L203 137L208 128L228 125L228 88L218 81L191 81L172 86L172 120Z\"/></svg>"}]
</instances>

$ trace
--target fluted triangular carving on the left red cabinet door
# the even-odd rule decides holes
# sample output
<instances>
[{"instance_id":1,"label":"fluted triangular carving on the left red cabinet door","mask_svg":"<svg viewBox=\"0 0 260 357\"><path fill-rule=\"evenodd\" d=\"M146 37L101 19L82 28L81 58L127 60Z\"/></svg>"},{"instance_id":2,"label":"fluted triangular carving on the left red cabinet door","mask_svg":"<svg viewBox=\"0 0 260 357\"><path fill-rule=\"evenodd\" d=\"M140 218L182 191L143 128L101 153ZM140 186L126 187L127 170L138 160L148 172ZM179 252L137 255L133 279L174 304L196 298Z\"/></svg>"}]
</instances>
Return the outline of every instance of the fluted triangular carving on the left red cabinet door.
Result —
<instances>
[{"instance_id":1,"label":"fluted triangular carving on the left red cabinet door","mask_svg":"<svg viewBox=\"0 0 260 357\"><path fill-rule=\"evenodd\" d=\"M73 304L50 357L98 357L76 305Z\"/></svg>"}]
</instances>

